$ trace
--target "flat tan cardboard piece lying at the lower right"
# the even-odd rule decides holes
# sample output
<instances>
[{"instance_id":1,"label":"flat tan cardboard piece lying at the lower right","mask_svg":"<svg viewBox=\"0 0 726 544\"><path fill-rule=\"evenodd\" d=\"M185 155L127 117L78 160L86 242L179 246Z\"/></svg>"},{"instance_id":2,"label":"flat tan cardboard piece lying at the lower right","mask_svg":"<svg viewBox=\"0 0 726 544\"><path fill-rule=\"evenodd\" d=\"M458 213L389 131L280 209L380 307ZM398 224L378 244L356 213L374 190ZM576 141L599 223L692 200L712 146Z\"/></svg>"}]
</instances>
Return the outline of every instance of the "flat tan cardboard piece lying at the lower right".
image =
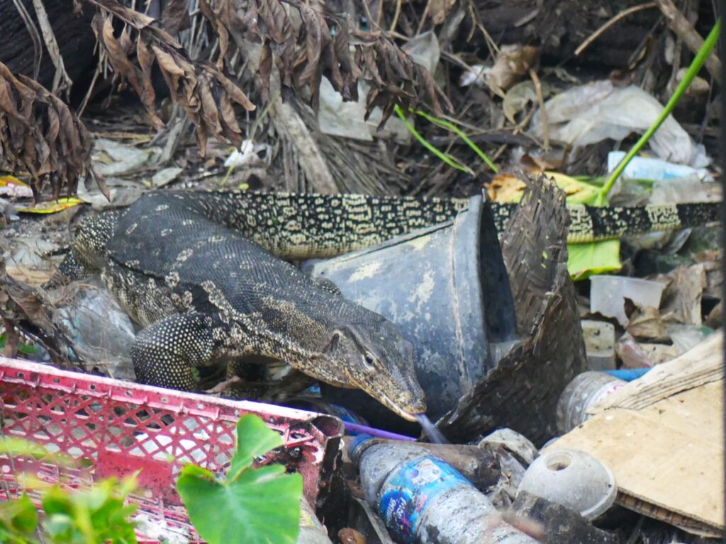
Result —
<instances>
[{"instance_id":1,"label":"flat tan cardboard piece lying at the lower right","mask_svg":"<svg viewBox=\"0 0 726 544\"><path fill-rule=\"evenodd\" d=\"M723 336L713 334L613 392L592 418L547 450L574 448L607 464L617 502L699 535L724 517Z\"/></svg>"}]
</instances>

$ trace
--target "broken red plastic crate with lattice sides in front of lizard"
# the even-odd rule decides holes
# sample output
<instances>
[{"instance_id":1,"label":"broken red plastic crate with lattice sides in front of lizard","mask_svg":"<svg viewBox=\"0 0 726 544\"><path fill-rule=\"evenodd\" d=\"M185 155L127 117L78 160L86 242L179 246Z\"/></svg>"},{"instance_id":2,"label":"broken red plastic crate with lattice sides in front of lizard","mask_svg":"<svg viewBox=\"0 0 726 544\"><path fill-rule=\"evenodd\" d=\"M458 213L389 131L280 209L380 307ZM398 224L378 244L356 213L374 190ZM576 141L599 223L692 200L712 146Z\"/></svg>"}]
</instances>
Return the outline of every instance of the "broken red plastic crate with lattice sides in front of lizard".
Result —
<instances>
[{"instance_id":1,"label":"broken red plastic crate with lattice sides in front of lizard","mask_svg":"<svg viewBox=\"0 0 726 544\"><path fill-rule=\"evenodd\" d=\"M62 371L0 357L2 434L23 437L76 459L88 469L0 456L0 500L17 496L15 474L35 474L46 482L84 487L95 479L123 477L141 469L139 513L150 527L188 535L198 542L176 493L176 475L193 462L216 473L229 466L234 427L255 413L282 435L284 446L258 464L280 462L303 477L312 505L330 482L343 435L340 419L276 405L234 401L160 387ZM31 494L36 501L37 496ZM158 538L139 532L139 541Z\"/></svg>"}]
</instances>

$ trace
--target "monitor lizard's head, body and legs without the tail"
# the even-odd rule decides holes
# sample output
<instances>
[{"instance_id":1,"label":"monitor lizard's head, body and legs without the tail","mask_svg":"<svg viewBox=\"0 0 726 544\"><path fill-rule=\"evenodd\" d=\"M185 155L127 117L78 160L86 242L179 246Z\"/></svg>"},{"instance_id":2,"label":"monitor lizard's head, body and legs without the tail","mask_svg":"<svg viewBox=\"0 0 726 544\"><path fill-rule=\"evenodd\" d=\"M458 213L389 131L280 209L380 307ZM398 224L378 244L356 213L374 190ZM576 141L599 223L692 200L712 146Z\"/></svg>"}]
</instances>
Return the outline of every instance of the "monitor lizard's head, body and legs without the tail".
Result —
<instances>
[{"instance_id":1,"label":"monitor lizard's head, body and legs without the tail","mask_svg":"<svg viewBox=\"0 0 726 544\"><path fill-rule=\"evenodd\" d=\"M211 221L211 209L193 194L148 195L84 222L62 266L99 269L146 326L131 347L139 382L194 390L195 366L256 354L362 389L411 421L425 412L413 347L393 323Z\"/></svg>"}]
</instances>

